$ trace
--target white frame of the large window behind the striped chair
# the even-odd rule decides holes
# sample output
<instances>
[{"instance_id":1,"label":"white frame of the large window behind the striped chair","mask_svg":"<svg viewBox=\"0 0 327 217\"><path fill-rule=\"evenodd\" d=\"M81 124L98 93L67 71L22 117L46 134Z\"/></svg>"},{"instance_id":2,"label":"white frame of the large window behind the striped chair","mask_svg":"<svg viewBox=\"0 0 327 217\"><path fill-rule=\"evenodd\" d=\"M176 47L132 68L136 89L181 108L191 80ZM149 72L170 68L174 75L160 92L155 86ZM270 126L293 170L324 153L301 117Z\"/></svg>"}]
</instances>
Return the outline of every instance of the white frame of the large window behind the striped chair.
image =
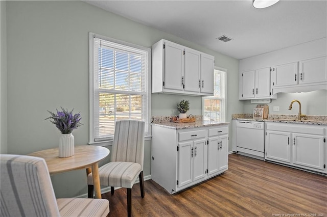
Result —
<instances>
[{"instance_id":1,"label":"white frame of the large window behind the striped chair","mask_svg":"<svg viewBox=\"0 0 327 217\"><path fill-rule=\"evenodd\" d=\"M118 39L106 37L103 35L95 34L89 32L89 145L100 145L100 146L108 146L112 145L113 135L108 137L106 140L95 141L94 127L95 127L95 119L94 119L94 107L95 107L95 53L94 53L94 38L106 40L109 42L121 44L124 46L133 47L136 49L145 50L148 52L148 81L147 81L147 123L145 126L145 140L151 140L151 52L152 49L149 47L139 46L136 44L132 44L129 42L121 41ZM133 92L130 92L132 94Z\"/></svg>"}]
</instances>

